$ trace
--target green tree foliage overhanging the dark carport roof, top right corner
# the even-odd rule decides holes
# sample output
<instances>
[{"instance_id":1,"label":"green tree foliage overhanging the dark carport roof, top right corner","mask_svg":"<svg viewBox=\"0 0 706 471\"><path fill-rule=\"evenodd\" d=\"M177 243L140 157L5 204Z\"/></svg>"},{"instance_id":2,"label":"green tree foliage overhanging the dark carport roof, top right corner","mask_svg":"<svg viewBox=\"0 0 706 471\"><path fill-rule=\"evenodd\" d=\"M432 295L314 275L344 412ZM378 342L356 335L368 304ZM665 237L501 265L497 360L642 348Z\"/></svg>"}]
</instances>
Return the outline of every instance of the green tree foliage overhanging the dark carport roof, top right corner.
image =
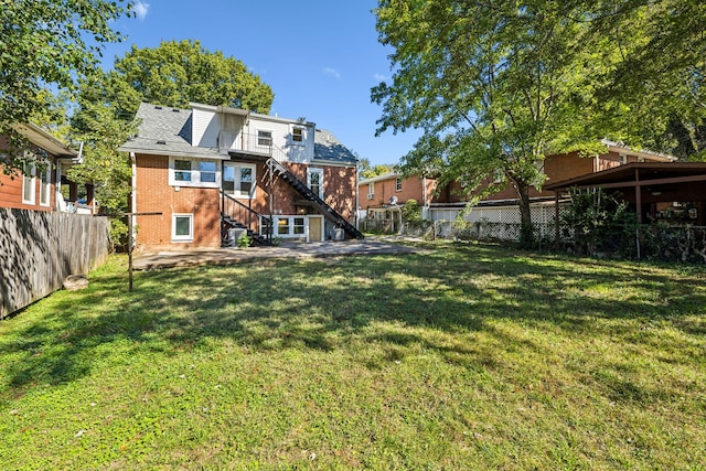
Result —
<instances>
[{"instance_id":1,"label":"green tree foliage overhanging the dark carport roof, top right corner","mask_svg":"<svg viewBox=\"0 0 706 471\"><path fill-rule=\"evenodd\" d=\"M624 105L633 140L681 158L706 158L706 3L607 0L577 6L610 38L620 61L600 95Z\"/></svg>"}]
</instances>

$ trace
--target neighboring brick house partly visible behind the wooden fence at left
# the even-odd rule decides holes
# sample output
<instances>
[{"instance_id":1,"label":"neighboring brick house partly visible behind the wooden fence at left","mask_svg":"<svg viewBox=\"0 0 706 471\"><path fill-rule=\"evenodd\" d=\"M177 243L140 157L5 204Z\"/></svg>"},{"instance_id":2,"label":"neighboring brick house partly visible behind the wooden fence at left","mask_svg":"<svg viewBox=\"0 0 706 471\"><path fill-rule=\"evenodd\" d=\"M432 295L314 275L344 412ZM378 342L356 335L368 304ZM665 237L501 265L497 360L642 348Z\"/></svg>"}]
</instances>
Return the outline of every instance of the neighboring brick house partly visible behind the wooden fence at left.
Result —
<instances>
[{"instance_id":1,"label":"neighboring brick house partly visible behind the wooden fence at left","mask_svg":"<svg viewBox=\"0 0 706 471\"><path fill-rule=\"evenodd\" d=\"M30 143L23 152L38 163L14 175L0 169L0 207L93 214L93 185L78 185L66 178L66 170L81 163L79 153L32 124L13 128ZM0 147L8 148L4 137Z\"/></svg>"}]
</instances>

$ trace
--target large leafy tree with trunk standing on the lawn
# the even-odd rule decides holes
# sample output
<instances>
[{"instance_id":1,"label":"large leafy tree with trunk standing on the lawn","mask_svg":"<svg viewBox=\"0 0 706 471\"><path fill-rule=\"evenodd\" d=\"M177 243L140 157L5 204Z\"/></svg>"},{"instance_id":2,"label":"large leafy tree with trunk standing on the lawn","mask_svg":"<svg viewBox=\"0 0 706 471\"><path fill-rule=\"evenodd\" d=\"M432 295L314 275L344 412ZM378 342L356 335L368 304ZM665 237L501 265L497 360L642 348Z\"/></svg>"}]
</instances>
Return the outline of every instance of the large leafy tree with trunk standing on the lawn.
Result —
<instances>
[{"instance_id":1,"label":"large leafy tree with trunk standing on the lawn","mask_svg":"<svg viewBox=\"0 0 706 471\"><path fill-rule=\"evenodd\" d=\"M377 132L424 129L403 158L408 173L438 172L468 191L510 183L530 245L542 160L601 133L589 125L591 77L606 42L564 2L381 0L376 13L379 41L394 49L392 84L372 90L383 105Z\"/></svg>"}]
</instances>

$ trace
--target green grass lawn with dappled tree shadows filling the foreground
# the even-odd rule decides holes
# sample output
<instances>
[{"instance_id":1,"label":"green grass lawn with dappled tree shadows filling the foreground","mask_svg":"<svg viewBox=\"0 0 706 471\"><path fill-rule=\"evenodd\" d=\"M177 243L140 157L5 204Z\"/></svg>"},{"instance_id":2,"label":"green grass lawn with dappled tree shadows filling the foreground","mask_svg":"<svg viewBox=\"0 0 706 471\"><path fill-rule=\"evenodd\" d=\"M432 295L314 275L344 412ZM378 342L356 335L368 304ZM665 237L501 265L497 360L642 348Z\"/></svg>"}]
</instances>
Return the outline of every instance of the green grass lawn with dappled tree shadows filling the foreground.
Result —
<instances>
[{"instance_id":1,"label":"green grass lawn with dappled tree shadows filling the foreground","mask_svg":"<svg viewBox=\"0 0 706 471\"><path fill-rule=\"evenodd\" d=\"M0 323L2 469L704 469L706 270L440 243Z\"/></svg>"}]
</instances>

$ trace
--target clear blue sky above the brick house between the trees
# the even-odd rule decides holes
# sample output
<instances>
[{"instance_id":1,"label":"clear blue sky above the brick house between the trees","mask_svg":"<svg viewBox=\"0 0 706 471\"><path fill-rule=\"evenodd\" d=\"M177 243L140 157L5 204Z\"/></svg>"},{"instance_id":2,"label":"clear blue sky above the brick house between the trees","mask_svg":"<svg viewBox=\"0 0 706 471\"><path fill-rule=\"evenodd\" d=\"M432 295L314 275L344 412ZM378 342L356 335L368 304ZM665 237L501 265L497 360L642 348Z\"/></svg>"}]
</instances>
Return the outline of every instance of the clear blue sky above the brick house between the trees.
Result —
<instances>
[{"instance_id":1,"label":"clear blue sky above the brick house between the trees","mask_svg":"<svg viewBox=\"0 0 706 471\"><path fill-rule=\"evenodd\" d=\"M110 44L110 68L132 44L157 47L161 41L199 40L208 51L243 61L272 87L271 114L306 117L329 129L371 163L397 163L418 132L375 137L382 108L370 89L392 75L392 50L377 42L374 0L138 0L138 18L121 19L116 30L127 41Z\"/></svg>"}]
</instances>

